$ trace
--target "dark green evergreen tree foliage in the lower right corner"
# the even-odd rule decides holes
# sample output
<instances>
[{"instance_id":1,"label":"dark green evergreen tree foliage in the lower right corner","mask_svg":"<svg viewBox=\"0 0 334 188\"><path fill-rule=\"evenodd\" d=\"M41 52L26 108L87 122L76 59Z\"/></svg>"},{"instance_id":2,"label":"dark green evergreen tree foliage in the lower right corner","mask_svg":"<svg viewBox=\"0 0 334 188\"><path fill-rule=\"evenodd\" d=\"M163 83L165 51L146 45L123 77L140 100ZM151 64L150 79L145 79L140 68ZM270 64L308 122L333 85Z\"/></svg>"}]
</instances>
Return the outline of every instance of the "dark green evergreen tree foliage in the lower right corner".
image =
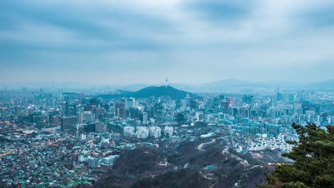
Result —
<instances>
[{"instance_id":1,"label":"dark green evergreen tree foliage in the lower right corner","mask_svg":"<svg viewBox=\"0 0 334 188\"><path fill-rule=\"evenodd\" d=\"M334 187L334 126L327 130L315 124L292 124L299 135L293 151L283 154L295 162L278 166L266 174L268 187Z\"/></svg>"}]
</instances>

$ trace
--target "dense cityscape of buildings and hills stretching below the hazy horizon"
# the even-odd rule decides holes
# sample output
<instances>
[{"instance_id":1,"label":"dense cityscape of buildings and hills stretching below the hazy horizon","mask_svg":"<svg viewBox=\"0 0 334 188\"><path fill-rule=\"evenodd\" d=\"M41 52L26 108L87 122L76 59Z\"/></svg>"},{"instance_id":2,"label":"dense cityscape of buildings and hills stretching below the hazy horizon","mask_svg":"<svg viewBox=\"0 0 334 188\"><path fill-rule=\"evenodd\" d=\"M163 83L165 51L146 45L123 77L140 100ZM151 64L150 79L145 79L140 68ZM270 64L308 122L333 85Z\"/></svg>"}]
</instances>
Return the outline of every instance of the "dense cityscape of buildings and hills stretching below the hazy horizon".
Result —
<instances>
[{"instance_id":1,"label":"dense cityscape of buildings and hills stretching below the hazy horizon","mask_svg":"<svg viewBox=\"0 0 334 188\"><path fill-rule=\"evenodd\" d=\"M169 84L117 93L0 89L0 187L179 182L177 187L255 188L270 184L265 172L294 165L293 157L282 154L295 152L308 137L296 127L311 127L310 135L320 134L333 148L327 137L333 134L333 87L254 94L201 89L191 93ZM323 149L333 159L328 151ZM321 166L330 169L325 162Z\"/></svg>"}]
</instances>

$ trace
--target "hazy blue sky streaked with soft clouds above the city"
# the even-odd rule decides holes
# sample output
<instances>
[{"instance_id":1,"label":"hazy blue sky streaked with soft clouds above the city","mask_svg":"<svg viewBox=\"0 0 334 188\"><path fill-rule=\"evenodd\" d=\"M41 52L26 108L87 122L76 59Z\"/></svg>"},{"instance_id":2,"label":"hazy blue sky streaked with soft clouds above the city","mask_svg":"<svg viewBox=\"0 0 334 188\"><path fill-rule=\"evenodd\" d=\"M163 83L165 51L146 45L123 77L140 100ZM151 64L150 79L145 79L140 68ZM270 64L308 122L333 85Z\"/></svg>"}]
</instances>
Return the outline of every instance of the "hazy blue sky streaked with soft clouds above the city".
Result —
<instances>
[{"instance_id":1,"label":"hazy blue sky streaked with soft clouds above the city","mask_svg":"<svg viewBox=\"0 0 334 188\"><path fill-rule=\"evenodd\" d=\"M333 0L4 0L0 84L330 80L333 9Z\"/></svg>"}]
</instances>

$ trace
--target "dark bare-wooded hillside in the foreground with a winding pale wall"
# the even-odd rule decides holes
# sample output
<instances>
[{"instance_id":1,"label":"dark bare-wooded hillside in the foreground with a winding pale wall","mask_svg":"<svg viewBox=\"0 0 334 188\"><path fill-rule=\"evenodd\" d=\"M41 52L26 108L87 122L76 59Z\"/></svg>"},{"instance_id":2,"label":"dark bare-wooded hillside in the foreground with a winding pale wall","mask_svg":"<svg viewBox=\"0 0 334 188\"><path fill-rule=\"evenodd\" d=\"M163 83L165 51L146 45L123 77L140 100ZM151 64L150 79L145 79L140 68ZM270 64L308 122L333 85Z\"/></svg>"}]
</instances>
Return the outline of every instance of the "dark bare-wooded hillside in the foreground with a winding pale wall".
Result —
<instances>
[{"instance_id":1,"label":"dark bare-wooded hillside in the foreground with a winding pale wall","mask_svg":"<svg viewBox=\"0 0 334 188\"><path fill-rule=\"evenodd\" d=\"M181 142L176 150L138 148L123 151L113 169L94 187L255 187L265 182L260 162L244 165L224 155L220 141L205 150L201 142Z\"/></svg>"}]
</instances>

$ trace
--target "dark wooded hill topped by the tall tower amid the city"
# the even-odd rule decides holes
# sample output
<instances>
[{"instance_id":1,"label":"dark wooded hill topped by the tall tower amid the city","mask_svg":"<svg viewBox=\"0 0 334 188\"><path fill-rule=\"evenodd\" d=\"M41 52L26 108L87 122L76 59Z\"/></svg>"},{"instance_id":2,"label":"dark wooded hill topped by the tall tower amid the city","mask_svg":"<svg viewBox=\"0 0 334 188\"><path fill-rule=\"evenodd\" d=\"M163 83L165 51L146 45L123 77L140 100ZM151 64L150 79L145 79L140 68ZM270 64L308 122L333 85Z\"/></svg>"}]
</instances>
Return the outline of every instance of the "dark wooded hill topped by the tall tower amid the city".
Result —
<instances>
[{"instance_id":1,"label":"dark wooded hill topped by the tall tower amid the city","mask_svg":"<svg viewBox=\"0 0 334 188\"><path fill-rule=\"evenodd\" d=\"M147 88L143 88L141 90L138 90L136 92L131 92L127 90L117 90L116 93L113 94L102 94L98 95L101 98L109 99L109 98L148 98L151 96L154 97L171 97L172 99L181 99L185 98L187 94L191 98L198 97L197 95L193 93L188 93L184 90L178 90L176 88L173 88L171 86L150 86Z\"/></svg>"}]
</instances>

